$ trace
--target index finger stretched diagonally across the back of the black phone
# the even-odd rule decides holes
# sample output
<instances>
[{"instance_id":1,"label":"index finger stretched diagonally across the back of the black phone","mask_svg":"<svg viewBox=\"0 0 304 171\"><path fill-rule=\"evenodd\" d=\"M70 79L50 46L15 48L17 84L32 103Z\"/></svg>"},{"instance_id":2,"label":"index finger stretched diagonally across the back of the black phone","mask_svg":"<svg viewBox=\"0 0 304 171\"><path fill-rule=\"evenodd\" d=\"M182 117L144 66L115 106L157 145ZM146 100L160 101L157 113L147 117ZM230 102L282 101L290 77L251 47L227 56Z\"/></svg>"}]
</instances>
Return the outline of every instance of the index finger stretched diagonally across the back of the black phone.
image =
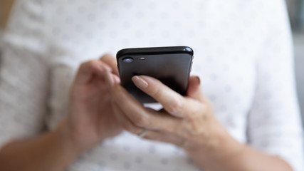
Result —
<instances>
[{"instance_id":1,"label":"index finger stretched diagonally across the back of the black phone","mask_svg":"<svg viewBox=\"0 0 304 171\"><path fill-rule=\"evenodd\" d=\"M179 93L150 76L133 76L135 85L157 100L171 115L184 117L185 100Z\"/></svg>"}]
</instances>

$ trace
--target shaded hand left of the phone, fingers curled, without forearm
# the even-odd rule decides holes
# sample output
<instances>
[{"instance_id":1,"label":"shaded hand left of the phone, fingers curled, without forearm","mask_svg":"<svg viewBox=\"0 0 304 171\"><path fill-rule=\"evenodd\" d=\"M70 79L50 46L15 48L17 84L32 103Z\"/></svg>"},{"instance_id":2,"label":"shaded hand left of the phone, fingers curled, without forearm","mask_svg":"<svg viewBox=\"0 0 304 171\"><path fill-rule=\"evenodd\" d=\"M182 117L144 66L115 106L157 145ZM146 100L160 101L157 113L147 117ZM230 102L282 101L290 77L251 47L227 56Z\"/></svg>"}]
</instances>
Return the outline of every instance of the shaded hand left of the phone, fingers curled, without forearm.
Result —
<instances>
[{"instance_id":1,"label":"shaded hand left of the phone, fingers curled, without forearm","mask_svg":"<svg viewBox=\"0 0 304 171\"><path fill-rule=\"evenodd\" d=\"M70 88L69 116L63 125L68 128L66 137L81 150L122 131L111 108L107 75L120 82L115 58L108 54L100 60L82 63Z\"/></svg>"}]
</instances>

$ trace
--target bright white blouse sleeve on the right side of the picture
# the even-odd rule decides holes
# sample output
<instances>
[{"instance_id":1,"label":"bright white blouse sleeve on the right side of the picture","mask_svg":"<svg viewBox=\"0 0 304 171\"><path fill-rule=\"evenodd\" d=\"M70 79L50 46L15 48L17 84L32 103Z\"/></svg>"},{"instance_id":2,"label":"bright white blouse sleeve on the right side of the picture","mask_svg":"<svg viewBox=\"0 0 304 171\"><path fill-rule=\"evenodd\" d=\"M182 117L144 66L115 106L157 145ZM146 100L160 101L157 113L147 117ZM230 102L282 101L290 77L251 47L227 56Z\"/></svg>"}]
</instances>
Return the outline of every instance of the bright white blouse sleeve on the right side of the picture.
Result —
<instances>
[{"instance_id":1,"label":"bright white blouse sleeve on the right side of the picture","mask_svg":"<svg viewBox=\"0 0 304 171\"><path fill-rule=\"evenodd\" d=\"M248 143L301 171L303 130L287 11L283 1L263 2L267 12L263 13L263 41L256 60L256 93L248 114Z\"/></svg>"}]
</instances>

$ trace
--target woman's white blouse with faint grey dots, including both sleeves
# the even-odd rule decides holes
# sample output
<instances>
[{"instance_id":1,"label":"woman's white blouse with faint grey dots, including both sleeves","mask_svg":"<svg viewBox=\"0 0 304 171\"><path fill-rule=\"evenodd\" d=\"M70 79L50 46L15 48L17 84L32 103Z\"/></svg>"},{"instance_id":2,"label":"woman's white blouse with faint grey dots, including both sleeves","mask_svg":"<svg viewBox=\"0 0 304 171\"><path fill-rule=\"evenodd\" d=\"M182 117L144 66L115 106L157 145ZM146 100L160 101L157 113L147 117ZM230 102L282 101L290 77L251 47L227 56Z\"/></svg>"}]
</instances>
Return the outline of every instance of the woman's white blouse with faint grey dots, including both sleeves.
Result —
<instances>
[{"instance_id":1,"label":"woman's white blouse with faint grey dots, including both sleeves","mask_svg":"<svg viewBox=\"0 0 304 171\"><path fill-rule=\"evenodd\" d=\"M293 52L283 0L19 0L4 33L0 146L68 114L79 64L121 48L186 45L216 118L251 147L303 167ZM199 170L182 149L124 132L78 170Z\"/></svg>"}]
</instances>

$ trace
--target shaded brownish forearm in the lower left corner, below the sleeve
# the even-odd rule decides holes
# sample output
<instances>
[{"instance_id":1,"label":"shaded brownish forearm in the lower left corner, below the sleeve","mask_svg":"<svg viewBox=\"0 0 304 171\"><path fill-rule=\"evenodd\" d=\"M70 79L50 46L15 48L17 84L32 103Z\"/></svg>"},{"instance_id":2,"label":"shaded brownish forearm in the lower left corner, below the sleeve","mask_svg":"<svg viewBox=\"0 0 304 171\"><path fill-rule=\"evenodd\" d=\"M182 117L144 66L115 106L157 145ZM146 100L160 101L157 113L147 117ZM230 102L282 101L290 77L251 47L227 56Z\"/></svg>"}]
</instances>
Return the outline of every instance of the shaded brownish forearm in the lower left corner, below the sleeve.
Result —
<instances>
[{"instance_id":1,"label":"shaded brownish forearm in the lower left corner, below the sleeve","mask_svg":"<svg viewBox=\"0 0 304 171\"><path fill-rule=\"evenodd\" d=\"M80 154L64 126L31 140L10 142L0 151L0 170L61 171Z\"/></svg>"}]
</instances>

